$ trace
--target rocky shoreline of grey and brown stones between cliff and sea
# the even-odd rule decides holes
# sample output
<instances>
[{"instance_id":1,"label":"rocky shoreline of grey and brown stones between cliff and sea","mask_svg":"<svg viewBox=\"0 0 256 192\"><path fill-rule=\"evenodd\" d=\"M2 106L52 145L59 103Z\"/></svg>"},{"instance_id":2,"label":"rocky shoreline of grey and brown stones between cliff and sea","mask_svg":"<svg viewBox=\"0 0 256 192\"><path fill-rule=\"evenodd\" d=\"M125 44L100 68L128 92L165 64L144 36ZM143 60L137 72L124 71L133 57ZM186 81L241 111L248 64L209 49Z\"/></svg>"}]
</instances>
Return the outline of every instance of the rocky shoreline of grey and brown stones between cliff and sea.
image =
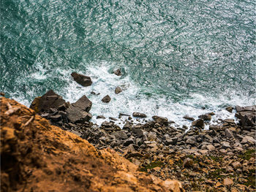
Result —
<instances>
[{"instance_id":1,"label":"rocky shoreline of grey and brown stones between cliff and sea","mask_svg":"<svg viewBox=\"0 0 256 192\"><path fill-rule=\"evenodd\" d=\"M115 74L121 75L121 71ZM87 76L72 73L72 77L80 85L91 85ZM119 91L117 88L115 92ZM109 101L109 96L102 99ZM214 115L211 112L196 120L187 115L184 119L191 121L190 128L176 128L165 117L154 115L144 120L147 115L141 112L119 114L119 119L125 117L122 127L117 118L99 126L90 122L91 105L86 96L70 104L51 90L34 99L30 108L99 150L116 150L141 172L182 181L186 191L255 191L256 106L227 107L236 113L238 123L219 119L218 124L209 125ZM97 118L105 119L102 115Z\"/></svg>"}]
</instances>

